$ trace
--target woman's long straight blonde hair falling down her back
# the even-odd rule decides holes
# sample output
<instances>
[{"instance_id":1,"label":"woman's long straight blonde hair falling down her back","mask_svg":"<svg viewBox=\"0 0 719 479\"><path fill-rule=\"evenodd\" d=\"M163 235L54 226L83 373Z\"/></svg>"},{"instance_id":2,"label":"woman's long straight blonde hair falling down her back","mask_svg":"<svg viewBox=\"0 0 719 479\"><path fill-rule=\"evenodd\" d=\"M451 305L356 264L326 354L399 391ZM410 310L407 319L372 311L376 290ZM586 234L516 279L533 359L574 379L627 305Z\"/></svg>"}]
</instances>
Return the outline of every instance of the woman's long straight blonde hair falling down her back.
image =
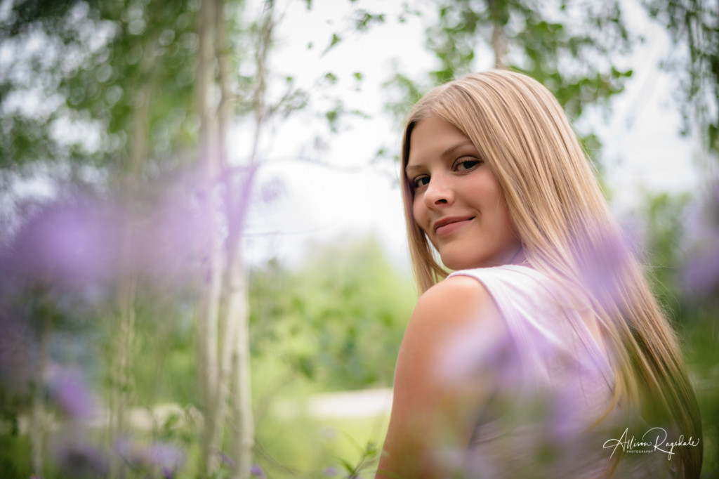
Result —
<instances>
[{"instance_id":1,"label":"woman's long straight blonde hair falling down her back","mask_svg":"<svg viewBox=\"0 0 719 479\"><path fill-rule=\"evenodd\" d=\"M504 70L434 88L409 114L402 193L419 291L446 277L412 214L404 173L415 125L434 115L472 140L502 189L533 268L590 301L615 369L615 402L701 437L700 414L677 338L622 240L592 168L557 99L541 83ZM677 448L681 470L698 477L702 443Z\"/></svg>"}]
</instances>

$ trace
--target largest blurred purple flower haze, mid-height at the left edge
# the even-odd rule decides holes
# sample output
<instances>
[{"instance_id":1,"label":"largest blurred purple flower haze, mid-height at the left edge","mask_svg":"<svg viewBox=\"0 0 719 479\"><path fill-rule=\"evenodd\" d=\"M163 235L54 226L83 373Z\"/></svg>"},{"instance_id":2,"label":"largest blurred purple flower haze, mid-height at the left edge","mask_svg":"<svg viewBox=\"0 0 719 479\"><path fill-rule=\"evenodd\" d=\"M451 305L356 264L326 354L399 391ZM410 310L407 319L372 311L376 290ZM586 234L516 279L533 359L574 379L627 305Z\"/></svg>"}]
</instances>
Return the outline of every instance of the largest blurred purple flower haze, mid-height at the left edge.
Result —
<instances>
[{"instance_id":1,"label":"largest blurred purple flower haze, mid-height at the left edge","mask_svg":"<svg viewBox=\"0 0 719 479\"><path fill-rule=\"evenodd\" d=\"M103 284L122 273L175 278L197 259L210 227L188 188L168 188L153 203L75 196L40 206L10 241L4 273L12 283L70 288Z\"/></svg>"}]
</instances>

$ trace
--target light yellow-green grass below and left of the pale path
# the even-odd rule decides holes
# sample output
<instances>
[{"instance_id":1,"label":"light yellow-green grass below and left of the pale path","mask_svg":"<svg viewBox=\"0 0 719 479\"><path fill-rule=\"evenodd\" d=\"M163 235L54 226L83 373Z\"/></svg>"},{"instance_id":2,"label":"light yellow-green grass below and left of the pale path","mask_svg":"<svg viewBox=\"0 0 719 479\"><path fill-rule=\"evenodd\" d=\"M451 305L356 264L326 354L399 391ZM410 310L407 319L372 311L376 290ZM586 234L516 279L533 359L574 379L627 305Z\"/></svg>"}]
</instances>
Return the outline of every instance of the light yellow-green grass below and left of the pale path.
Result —
<instances>
[{"instance_id":1,"label":"light yellow-green grass below and left of the pale path","mask_svg":"<svg viewBox=\"0 0 719 479\"><path fill-rule=\"evenodd\" d=\"M317 417L309 407L312 394L326 385L290 370L280 354L252 360L255 462L268 477L348 478L350 469L374 472L388 414Z\"/></svg>"}]
</instances>

